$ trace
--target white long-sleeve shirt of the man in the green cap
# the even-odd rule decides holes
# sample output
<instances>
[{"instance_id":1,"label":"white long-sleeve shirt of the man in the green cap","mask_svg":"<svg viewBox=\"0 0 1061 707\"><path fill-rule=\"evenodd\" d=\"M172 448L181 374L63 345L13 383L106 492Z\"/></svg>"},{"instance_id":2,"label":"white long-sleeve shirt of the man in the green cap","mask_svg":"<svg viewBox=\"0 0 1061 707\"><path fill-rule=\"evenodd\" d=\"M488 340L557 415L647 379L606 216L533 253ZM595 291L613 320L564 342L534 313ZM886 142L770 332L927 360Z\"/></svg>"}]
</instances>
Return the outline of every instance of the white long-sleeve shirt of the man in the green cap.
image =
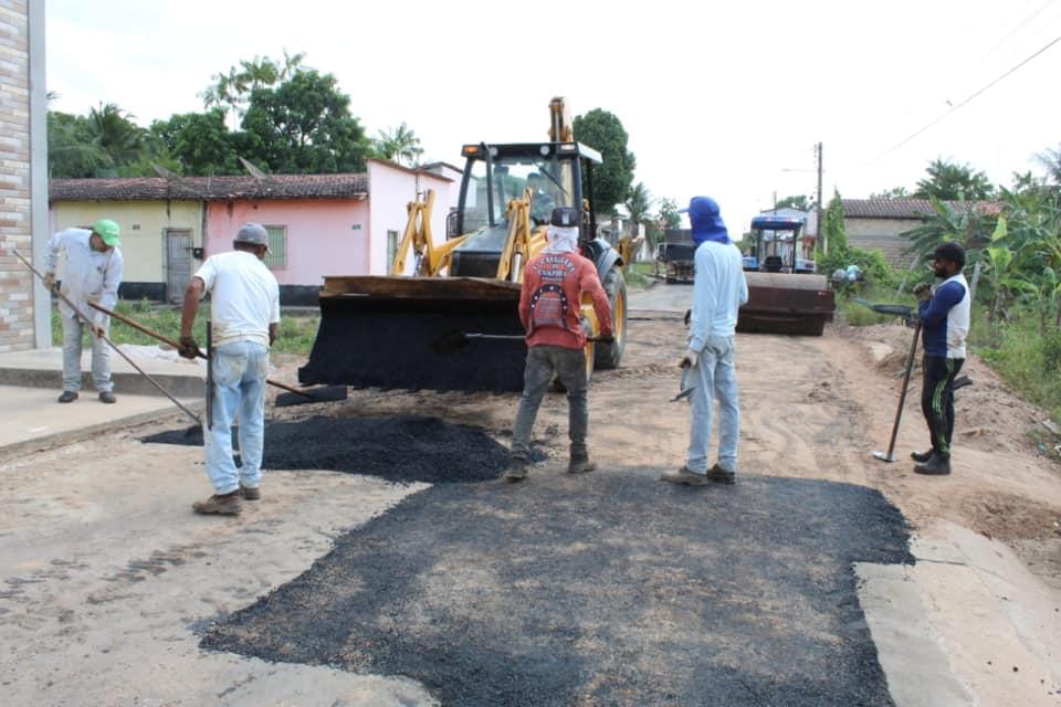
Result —
<instances>
[{"instance_id":1,"label":"white long-sleeve shirt of the man in the green cap","mask_svg":"<svg viewBox=\"0 0 1061 707\"><path fill-rule=\"evenodd\" d=\"M103 325L107 316L88 306L90 302L101 307L114 309L118 303L118 285L125 271L122 249L113 247L102 253L92 250L88 240L92 231L86 229L66 229L52 236L48 243L48 271L55 272L55 264L62 252L66 253L61 292L77 305L82 314L90 317L92 324ZM75 317L74 310L59 300L59 310L64 317Z\"/></svg>"}]
</instances>

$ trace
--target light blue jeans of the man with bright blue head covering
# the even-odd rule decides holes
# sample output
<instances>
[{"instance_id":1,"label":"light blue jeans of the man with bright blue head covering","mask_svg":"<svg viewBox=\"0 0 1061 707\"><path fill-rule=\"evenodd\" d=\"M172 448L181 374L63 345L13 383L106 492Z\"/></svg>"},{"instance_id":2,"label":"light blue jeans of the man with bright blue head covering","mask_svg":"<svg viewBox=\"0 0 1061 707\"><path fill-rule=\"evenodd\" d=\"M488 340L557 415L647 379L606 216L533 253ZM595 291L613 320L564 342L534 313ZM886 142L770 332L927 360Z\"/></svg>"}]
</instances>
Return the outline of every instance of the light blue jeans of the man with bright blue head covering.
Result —
<instances>
[{"instance_id":1,"label":"light blue jeans of the man with bright blue head covering","mask_svg":"<svg viewBox=\"0 0 1061 707\"><path fill-rule=\"evenodd\" d=\"M707 473L711 447L711 422L715 399L718 399L718 465L737 471L737 437L740 433L740 402L737 394L737 371L733 365L733 337L711 337L700 352L696 366L686 373L687 386L696 390L689 398L692 422L689 430L689 455L685 466L696 474Z\"/></svg>"}]
</instances>

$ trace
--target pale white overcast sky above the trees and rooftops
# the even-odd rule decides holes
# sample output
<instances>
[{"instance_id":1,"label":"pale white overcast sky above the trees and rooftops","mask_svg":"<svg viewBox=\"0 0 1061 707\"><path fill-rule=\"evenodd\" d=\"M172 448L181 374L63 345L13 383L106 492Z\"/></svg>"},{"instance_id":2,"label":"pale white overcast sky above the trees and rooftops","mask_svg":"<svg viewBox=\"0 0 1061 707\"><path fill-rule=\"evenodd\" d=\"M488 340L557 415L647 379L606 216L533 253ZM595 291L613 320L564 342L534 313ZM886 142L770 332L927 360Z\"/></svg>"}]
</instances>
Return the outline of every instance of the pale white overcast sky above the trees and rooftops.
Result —
<instances>
[{"instance_id":1,"label":"pale white overcast sky above the trees and rooftops","mask_svg":"<svg viewBox=\"0 0 1061 707\"><path fill-rule=\"evenodd\" d=\"M338 77L370 135L406 122L459 163L464 143L546 139L563 95L619 116L654 196L713 196L738 233L774 192L815 190L818 140L827 196L851 198L937 157L1009 184L1061 144L1059 43L895 148L1061 35L1058 0L46 2L54 109L113 102L147 125L286 49Z\"/></svg>"}]
</instances>

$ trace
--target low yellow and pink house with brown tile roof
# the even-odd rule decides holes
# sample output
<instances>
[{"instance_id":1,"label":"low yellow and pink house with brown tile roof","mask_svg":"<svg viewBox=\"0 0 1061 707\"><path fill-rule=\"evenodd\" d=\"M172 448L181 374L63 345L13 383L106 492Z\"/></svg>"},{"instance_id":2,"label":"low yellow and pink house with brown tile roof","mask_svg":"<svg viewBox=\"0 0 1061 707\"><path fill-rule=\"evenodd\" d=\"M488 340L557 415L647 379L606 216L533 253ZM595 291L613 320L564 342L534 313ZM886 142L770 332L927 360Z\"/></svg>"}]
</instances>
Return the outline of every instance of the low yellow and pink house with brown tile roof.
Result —
<instances>
[{"instance_id":1,"label":"low yellow and pink house with brown tile roof","mask_svg":"<svg viewBox=\"0 0 1061 707\"><path fill-rule=\"evenodd\" d=\"M389 273L406 205L429 189L441 241L460 196L460 170L376 159L357 175L52 180L51 226L117 220L126 257L122 296L179 302L202 260L232 250L240 225L254 221L270 232L265 262L282 303L315 306L325 275Z\"/></svg>"}]
</instances>

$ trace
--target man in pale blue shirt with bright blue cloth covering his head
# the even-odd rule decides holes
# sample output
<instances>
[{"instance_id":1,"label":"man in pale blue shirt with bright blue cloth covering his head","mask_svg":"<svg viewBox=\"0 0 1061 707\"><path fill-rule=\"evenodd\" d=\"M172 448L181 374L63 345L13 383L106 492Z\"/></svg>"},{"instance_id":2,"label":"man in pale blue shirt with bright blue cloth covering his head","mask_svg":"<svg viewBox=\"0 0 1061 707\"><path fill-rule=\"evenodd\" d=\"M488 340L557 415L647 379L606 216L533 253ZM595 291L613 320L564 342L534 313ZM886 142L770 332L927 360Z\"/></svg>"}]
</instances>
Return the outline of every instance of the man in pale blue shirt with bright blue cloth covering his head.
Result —
<instances>
[{"instance_id":1,"label":"man in pale blue shirt with bright blue cloth covering his head","mask_svg":"<svg viewBox=\"0 0 1061 707\"><path fill-rule=\"evenodd\" d=\"M734 367L737 310L748 302L740 251L729 240L718 204L710 197L694 197L689 208L693 243L693 307L689 317L689 348L679 361L692 421L685 465L664 473L672 484L702 486L733 484L737 472L737 439L740 405ZM708 468L711 424L718 399L718 461Z\"/></svg>"}]
</instances>

